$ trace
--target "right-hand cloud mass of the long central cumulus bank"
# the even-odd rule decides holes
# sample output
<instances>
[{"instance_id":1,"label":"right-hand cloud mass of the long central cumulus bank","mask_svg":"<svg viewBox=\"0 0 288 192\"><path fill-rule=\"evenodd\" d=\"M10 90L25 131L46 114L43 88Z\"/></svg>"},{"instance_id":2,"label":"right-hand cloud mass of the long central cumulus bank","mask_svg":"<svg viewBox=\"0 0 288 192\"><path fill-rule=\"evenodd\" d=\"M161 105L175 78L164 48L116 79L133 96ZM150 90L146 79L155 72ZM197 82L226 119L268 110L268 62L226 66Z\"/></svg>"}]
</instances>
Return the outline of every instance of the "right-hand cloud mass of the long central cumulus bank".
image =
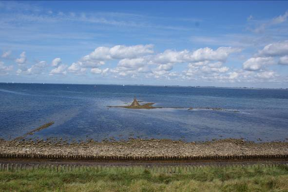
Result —
<instances>
[{"instance_id":1,"label":"right-hand cloud mass of the long central cumulus bank","mask_svg":"<svg viewBox=\"0 0 288 192\"><path fill-rule=\"evenodd\" d=\"M205 47L195 51L166 50L163 53L155 55L149 63L158 64L156 68L152 69L152 73L155 76L165 75L167 77L175 63L189 62L189 69L185 71L185 75L189 77L204 73L225 73L229 70L229 67L222 66L222 64L226 62L231 53L239 51L241 51L241 49L232 47L219 47L216 50ZM211 61L217 62L211 63Z\"/></svg>"}]
</instances>

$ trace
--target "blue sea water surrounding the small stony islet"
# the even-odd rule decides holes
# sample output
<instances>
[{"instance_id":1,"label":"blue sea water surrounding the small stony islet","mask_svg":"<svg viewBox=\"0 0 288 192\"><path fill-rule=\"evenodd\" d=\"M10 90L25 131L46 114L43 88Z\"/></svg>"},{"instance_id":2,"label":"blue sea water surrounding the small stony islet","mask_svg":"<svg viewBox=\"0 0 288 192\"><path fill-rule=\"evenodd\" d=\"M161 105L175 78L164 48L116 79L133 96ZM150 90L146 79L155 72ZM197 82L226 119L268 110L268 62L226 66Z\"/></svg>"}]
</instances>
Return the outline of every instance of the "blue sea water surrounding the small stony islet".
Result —
<instances>
[{"instance_id":1,"label":"blue sea water surrounding the small stony islet","mask_svg":"<svg viewBox=\"0 0 288 192\"><path fill-rule=\"evenodd\" d=\"M136 97L159 109L109 108ZM193 109L219 107L228 110ZM239 112L231 112L239 111ZM54 121L32 138L288 138L288 90L141 85L0 84L0 138Z\"/></svg>"}]
</instances>

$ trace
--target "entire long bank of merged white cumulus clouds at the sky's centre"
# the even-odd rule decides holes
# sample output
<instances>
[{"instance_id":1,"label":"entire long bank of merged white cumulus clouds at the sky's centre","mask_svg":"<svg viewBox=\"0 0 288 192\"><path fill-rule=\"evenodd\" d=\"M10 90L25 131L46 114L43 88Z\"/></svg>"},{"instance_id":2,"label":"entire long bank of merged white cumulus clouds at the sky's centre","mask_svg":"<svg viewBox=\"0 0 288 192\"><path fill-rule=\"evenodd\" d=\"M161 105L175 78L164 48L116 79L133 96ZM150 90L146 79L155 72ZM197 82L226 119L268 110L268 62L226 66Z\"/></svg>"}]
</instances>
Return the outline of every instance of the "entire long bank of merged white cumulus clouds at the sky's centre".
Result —
<instances>
[{"instance_id":1,"label":"entire long bank of merged white cumulus clouds at the sky's centre","mask_svg":"<svg viewBox=\"0 0 288 192\"><path fill-rule=\"evenodd\" d=\"M203 73L215 72L224 73L229 67L222 66L231 53L239 52L241 49L232 47L219 47L215 50L205 47L195 51L165 50L162 53L154 54L153 45L116 45L114 47L97 47L92 53L82 57L79 61L71 64L68 70L73 73L79 73L83 68L91 68L90 72L101 74L101 65L109 60L119 60L115 68L109 69L115 76L136 77L139 73L149 74L159 78L161 75L173 77L175 73L170 72L173 66L178 63L194 63L195 65L208 64L211 61L220 62L200 69ZM173 74L173 75L172 75Z\"/></svg>"}]
</instances>

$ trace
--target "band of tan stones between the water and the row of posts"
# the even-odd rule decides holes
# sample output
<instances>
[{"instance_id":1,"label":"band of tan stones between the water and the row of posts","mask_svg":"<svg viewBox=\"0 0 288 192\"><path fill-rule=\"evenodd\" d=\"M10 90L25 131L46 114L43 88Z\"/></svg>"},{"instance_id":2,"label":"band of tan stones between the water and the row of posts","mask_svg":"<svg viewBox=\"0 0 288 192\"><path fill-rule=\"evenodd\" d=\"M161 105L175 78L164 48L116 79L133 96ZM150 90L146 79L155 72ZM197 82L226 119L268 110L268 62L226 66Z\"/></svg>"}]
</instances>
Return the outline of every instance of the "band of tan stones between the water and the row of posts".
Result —
<instances>
[{"instance_id":1,"label":"band of tan stones between the water and the row of posts","mask_svg":"<svg viewBox=\"0 0 288 192\"><path fill-rule=\"evenodd\" d=\"M125 142L4 141L0 153L103 156L208 156L288 154L288 142L253 143L241 139L211 142L133 139Z\"/></svg>"}]
</instances>

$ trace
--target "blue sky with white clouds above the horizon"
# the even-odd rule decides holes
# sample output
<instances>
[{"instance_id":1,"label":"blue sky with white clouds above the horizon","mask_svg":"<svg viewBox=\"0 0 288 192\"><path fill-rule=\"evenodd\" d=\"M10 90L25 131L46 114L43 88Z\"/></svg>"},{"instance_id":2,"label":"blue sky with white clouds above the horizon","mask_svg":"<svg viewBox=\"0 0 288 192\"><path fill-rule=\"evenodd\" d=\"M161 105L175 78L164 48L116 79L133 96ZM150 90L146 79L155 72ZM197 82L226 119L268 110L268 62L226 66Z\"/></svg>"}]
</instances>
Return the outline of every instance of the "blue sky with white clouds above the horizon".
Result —
<instances>
[{"instance_id":1,"label":"blue sky with white clouds above the horizon","mask_svg":"<svg viewBox=\"0 0 288 192\"><path fill-rule=\"evenodd\" d=\"M0 1L0 82L288 88L288 1Z\"/></svg>"}]
</instances>

